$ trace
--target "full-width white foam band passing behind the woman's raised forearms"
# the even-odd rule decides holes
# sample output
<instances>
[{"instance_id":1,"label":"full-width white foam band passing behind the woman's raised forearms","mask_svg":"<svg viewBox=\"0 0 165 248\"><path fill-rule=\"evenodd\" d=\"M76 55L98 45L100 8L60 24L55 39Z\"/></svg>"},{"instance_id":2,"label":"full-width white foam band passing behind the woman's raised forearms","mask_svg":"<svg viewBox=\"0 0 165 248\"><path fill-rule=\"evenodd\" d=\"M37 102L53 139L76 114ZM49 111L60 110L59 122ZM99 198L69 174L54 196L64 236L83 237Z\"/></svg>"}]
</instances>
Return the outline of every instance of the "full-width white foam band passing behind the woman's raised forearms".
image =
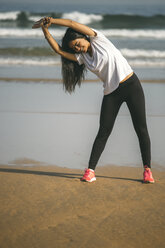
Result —
<instances>
[{"instance_id":1,"label":"full-width white foam band passing behind the woman's raised forearms","mask_svg":"<svg viewBox=\"0 0 165 248\"><path fill-rule=\"evenodd\" d=\"M102 29L100 30L107 37L144 38L144 39L165 39L165 30L129 30L129 29ZM53 28L50 32L56 38L62 38L64 29ZM0 28L0 37L43 37L41 29L30 28Z\"/></svg>"}]
</instances>

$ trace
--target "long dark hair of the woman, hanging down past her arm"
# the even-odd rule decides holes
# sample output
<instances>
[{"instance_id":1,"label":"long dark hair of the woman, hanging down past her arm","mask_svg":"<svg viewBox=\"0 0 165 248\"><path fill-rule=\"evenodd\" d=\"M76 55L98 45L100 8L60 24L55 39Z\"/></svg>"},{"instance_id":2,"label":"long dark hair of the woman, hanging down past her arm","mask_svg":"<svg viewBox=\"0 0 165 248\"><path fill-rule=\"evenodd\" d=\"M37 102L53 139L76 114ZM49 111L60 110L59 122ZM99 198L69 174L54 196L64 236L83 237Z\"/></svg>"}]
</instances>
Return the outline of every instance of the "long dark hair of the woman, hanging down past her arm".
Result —
<instances>
[{"instance_id":1,"label":"long dark hair of the woman, hanging down past her arm","mask_svg":"<svg viewBox=\"0 0 165 248\"><path fill-rule=\"evenodd\" d=\"M84 38L89 41L89 38L75 31L72 28L68 28L62 39L62 50L69 53L76 53L69 47L69 42L75 39ZM86 68L85 65L79 65L78 62L68 60L61 56L62 60L62 77L64 89L72 93L75 90L76 85L81 85L82 80L85 79Z\"/></svg>"}]
</instances>

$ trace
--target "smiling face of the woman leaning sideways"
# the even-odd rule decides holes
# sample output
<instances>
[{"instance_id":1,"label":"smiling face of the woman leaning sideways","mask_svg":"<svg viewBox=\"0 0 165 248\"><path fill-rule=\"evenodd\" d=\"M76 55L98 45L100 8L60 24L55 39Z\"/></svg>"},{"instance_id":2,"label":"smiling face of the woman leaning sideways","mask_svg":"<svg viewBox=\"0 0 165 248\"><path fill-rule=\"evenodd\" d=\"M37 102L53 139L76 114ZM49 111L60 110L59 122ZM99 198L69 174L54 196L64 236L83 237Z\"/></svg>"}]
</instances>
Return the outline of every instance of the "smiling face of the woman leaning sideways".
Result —
<instances>
[{"instance_id":1,"label":"smiling face of the woman leaning sideways","mask_svg":"<svg viewBox=\"0 0 165 248\"><path fill-rule=\"evenodd\" d=\"M90 42L84 38L78 38L69 42L69 47L76 53L86 53L90 50Z\"/></svg>"}]
</instances>

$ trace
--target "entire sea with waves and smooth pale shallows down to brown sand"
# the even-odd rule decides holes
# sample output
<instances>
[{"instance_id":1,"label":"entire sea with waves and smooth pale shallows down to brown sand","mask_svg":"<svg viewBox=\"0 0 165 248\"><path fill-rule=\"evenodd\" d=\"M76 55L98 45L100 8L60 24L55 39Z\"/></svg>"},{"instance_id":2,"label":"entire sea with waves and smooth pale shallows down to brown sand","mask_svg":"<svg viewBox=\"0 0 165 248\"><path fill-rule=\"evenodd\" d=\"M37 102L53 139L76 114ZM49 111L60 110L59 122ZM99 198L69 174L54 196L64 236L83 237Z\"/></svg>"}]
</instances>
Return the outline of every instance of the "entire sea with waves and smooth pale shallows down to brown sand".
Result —
<instances>
[{"instance_id":1,"label":"entire sea with waves and smooth pale shallows down to brown sand","mask_svg":"<svg viewBox=\"0 0 165 248\"><path fill-rule=\"evenodd\" d=\"M102 83L88 72L82 89L77 88L72 96L63 91L60 57L51 50L42 31L31 28L43 16L71 18L98 29L121 51L147 95L147 117L154 140L153 164L164 166L164 152L158 147L165 145L161 134L165 124L165 4L66 4L65 11L62 4L1 5L0 163L24 164L26 160L33 161L29 164L40 161L84 168L97 132ZM54 25L50 32L60 43L65 28ZM118 148L122 149L119 137L124 139L123 133L128 137L132 126L128 124L129 118L123 107L101 165L141 163L134 131L125 142L127 149L118 156ZM110 155L109 147L113 147Z\"/></svg>"}]
</instances>

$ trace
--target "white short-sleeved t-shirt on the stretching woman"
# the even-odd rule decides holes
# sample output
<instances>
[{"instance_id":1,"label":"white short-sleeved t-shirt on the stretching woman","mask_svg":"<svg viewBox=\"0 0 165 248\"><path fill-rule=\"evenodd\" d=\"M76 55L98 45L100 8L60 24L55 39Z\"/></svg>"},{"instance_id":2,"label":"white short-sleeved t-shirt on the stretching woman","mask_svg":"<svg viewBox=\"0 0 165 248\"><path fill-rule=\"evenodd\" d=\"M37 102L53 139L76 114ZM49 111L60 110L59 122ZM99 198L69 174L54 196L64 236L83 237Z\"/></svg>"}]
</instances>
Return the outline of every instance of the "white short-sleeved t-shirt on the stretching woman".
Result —
<instances>
[{"instance_id":1,"label":"white short-sleeved t-shirt on the stretching woman","mask_svg":"<svg viewBox=\"0 0 165 248\"><path fill-rule=\"evenodd\" d=\"M111 41L101 32L94 31L97 35L89 37L92 56L89 53L76 53L75 55L80 65L84 63L103 81L104 95L108 95L117 89L119 83L133 70Z\"/></svg>"}]
</instances>

